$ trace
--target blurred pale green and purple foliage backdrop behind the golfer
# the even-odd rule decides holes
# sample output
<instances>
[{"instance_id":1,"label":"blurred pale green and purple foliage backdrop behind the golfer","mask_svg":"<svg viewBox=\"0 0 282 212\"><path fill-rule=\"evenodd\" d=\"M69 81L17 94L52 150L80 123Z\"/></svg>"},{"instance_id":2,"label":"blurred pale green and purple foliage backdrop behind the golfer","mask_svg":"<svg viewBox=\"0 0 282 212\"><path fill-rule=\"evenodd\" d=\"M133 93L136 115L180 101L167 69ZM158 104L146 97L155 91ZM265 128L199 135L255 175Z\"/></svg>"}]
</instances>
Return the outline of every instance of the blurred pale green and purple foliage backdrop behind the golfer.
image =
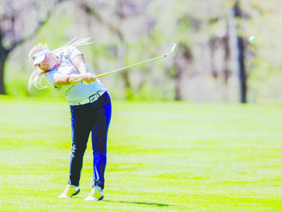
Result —
<instances>
[{"instance_id":1,"label":"blurred pale green and purple foliage backdrop behind the golfer","mask_svg":"<svg viewBox=\"0 0 282 212\"><path fill-rule=\"evenodd\" d=\"M7 2L14 7L27 3L1 2L3 8ZM9 95L64 98L51 88L28 92L32 72L28 53L37 43L56 48L80 36L92 37L92 45L78 48L96 74L164 55L171 43L179 45L171 57L101 78L114 99L173 100L179 95L180 99L190 102L236 103L239 80L234 30L228 32L231 56L227 61L227 83L223 72L224 47L218 45L213 57L210 48L210 40L222 38L234 21L240 24L238 34L245 40L248 102L282 102L282 41L279 39L282 32L278 27L282 3L279 0L242 1L240 6L246 18L234 20L231 17L234 1L226 0L55 2L50 1L55 6L47 22L30 40L18 45L5 62L4 82ZM34 27L35 17L44 17L44 14L44 10L27 13L29 18L23 22L23 34ZM252 35L257 41L249 44L248 38ZM3 40L5 42L8 45L8 39Z\"/></svg>"}]
</instances>

